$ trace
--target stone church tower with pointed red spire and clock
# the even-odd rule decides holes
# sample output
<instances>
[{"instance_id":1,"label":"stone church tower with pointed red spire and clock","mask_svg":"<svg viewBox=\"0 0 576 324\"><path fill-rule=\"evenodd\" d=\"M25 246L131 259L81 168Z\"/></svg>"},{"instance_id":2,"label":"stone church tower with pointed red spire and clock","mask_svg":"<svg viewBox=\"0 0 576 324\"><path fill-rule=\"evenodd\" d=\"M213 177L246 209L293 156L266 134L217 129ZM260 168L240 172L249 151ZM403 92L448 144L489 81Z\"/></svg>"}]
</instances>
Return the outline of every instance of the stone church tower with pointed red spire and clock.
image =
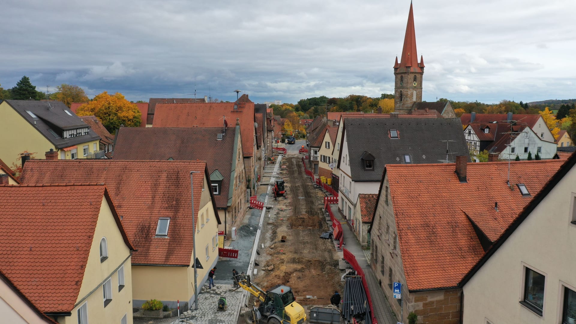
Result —
<instances>
[{"instance_id":1,"label":"stone church tower with pointed red spire and clock","mask_svg":"<svg viewBox=\"0 0 576 324\"><path fill-rule=\"evenodd\" d=\"M404 47L398 63L394 64L394 111L407 113L413 103L422 102L422 77L424 75L424 59L416 52L416 32L414 30L414 16L412 2L408 13L408 24L404 36Z\"/></svg>"}]
</instances>

